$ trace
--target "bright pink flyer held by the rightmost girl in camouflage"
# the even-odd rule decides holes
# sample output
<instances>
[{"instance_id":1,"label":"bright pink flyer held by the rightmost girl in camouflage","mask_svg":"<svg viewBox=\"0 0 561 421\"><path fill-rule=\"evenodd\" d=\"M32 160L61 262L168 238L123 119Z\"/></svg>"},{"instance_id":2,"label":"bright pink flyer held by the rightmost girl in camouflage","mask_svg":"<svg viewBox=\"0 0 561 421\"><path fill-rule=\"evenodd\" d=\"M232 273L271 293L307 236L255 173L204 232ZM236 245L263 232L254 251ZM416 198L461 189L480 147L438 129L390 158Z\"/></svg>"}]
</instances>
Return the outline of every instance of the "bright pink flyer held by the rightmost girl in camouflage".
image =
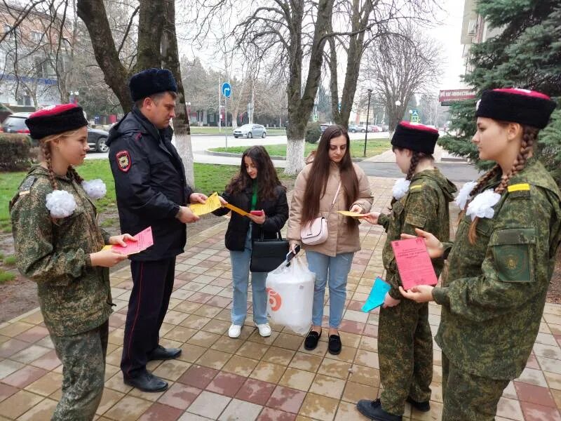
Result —
<instances>
[{"instance_id":1,"label":"bright pink flyer held by the rightmost girl in camouflage","mask_svg":"<svg viewBox=\"0 0 561 421\"><path fill-rule=\"evenodd\" d=\"M405 290L416 285L436 285L438 279L424 239L416 237L392 241L391 248L396 256L401 283Z\"/></svg>"}]
</instances>

